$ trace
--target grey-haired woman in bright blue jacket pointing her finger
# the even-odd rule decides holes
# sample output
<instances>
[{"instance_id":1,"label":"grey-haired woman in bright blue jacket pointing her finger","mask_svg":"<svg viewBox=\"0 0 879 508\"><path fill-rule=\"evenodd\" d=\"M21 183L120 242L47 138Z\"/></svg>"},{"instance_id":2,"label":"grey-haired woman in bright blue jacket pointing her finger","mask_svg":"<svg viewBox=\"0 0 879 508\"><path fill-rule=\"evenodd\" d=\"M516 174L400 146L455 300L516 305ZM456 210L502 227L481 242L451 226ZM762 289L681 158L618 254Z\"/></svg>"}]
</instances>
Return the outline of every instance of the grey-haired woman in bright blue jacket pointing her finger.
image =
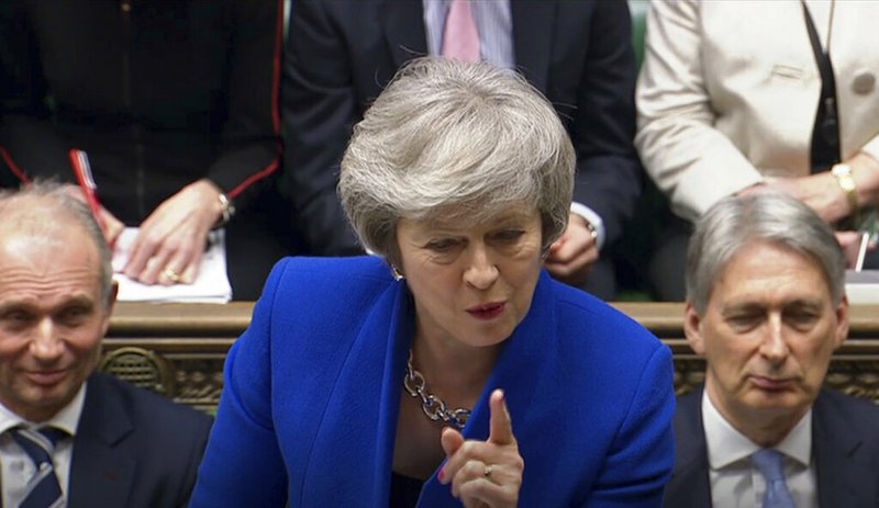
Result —
<instances>
[{"instance_id":1,"label":"grey-haired woman in bright blue jacket pointing her finger","mask_svg":"<svg viewBox=\"0 0 879 508\"><path fill-rule=\"evenodd\" d=\"M574 163L518 75L403 68L342 162L378 256L275 268L191 506L659 506L670 351L543 269Z\"/></svg>"}]
</instances>

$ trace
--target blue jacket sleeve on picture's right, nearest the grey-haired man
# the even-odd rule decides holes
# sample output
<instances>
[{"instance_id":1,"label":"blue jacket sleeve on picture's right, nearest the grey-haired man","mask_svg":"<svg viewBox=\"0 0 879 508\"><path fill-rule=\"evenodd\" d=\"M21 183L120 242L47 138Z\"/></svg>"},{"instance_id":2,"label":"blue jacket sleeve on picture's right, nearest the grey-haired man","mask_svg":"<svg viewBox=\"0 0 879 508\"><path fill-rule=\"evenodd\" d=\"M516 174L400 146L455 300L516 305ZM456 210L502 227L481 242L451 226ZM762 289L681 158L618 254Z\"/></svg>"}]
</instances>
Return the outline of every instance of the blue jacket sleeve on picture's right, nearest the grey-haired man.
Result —
<instances>
[{"instance_id":1,"label":"blue jacket sleeve on picture's right, nearest the grey-haired man","mask_svg":"<svg viewBox=\"0 0 879 508\"><path fill-rule=\"evenodd\" d=\"M658 507L675 462L675 384L671 351L656 348L604 466L581 506Z\"/></svg>"}]
</instances>

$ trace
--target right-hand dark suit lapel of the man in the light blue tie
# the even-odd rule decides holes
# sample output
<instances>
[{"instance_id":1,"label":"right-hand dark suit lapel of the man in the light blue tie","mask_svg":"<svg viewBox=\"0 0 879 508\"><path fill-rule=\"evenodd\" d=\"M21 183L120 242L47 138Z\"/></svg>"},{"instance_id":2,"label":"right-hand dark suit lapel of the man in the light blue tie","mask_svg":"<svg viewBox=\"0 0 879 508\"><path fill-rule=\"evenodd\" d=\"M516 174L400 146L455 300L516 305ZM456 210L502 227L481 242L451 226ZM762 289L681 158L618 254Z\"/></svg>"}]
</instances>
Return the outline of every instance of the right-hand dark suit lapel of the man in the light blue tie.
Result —
<instances>
[{"instance_id":1,"label":"right-hand dark suit lapel of the man in the light blue tie","mask_svg":"<svg viewBox=\"0 0 879 508\"><path fill-rule=\"evenodd\" d=\"M844 405L836 404L827 392L819 395L812 410L812 455L821 507L875 503L858 485L870 467L857 454L861 438L848 422L850 415L846 413Z\"/></svg>"}]
</instances>

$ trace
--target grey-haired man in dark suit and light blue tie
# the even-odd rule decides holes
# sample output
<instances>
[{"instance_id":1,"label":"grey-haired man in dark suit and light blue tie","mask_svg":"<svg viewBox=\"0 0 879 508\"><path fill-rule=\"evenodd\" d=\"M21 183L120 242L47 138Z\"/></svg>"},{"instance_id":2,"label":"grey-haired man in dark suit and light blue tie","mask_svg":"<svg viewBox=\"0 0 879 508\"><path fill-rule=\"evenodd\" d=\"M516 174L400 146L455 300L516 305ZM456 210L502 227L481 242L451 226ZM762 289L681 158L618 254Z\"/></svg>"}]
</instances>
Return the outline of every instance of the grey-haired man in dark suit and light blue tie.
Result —
<instances>
[{"instance_id":1,"label":"grey-haired man in dark suit and light blue tie","mask_svg":"<svg viewBox=\"0 0 879 508\"><path fill-rule=\"evenodd\" d=\"M845 266L787 195L726 197L699 221L685 332L705 385L678 404L665 506L879 506L879 407L822 388L848 335Z\"/></svg>"}]
</instances>

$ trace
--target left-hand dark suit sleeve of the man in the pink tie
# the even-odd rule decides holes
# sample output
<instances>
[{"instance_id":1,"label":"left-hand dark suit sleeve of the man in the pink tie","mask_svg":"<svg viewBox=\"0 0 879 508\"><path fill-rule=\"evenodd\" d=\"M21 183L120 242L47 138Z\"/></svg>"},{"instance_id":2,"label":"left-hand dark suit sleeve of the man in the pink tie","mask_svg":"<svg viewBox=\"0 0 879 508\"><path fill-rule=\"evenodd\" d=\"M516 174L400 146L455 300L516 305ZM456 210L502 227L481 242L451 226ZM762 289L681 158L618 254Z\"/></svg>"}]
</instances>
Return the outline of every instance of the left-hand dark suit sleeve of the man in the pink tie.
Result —
<instances>
[{"instance_id":1,"label":"left-hand dark suit sleeve of the man in the pink tie","mask_svg":"<svg viewBox=\"0 0 879 508\"><path fill-rule=\"evenodd\" d=\"M336 195L342 155L359 120L344 37L323 2L293 2L283 76L286 177L296 228L318 256L363 253Z\"/></svg>"}]
</instances>

